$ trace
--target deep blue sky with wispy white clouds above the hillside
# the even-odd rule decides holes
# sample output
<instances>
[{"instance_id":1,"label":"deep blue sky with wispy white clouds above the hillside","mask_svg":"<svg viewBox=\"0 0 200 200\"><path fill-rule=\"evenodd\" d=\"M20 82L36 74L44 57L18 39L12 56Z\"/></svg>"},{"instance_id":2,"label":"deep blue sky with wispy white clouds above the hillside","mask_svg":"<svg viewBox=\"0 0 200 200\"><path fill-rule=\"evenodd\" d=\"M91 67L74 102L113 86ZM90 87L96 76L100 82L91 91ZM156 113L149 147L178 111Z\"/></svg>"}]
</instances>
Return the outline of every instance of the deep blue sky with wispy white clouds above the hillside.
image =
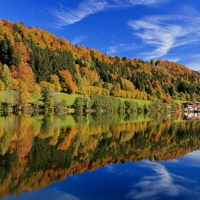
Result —
<instances>
[{"instance_id":1,"label":"deep blue sky with wispy white clouds above the hillside","mask_svg":"<svg viewBox=\"0 0 200 200\"><path fill-rule=\"evenodd\" d=\"M0 18L109 55L176 61L200 71L198 0L1 0Z\"/></svg>"}]
</instances>

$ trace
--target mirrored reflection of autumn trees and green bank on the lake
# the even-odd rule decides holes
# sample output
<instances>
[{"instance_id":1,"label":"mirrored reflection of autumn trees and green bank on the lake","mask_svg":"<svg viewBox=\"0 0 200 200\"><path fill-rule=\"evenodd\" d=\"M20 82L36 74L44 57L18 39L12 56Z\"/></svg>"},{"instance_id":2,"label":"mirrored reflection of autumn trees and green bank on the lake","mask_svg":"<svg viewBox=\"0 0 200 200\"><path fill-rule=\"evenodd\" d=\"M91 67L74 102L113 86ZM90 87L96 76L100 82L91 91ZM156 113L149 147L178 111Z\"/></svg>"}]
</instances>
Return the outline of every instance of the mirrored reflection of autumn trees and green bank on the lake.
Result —
<instances>
[{"instance_id":1,"label":"mirrored reflection of autumn trees and green bank on the lake","mask_svg":"<svg viewBox=\"0 0 200 200\"><path fill-rule=\"evenodd\" d=\"M200 147L200 122L182 115L0 117L0 198L109 163L175 159Z\"/></svg>"}]
</instances>

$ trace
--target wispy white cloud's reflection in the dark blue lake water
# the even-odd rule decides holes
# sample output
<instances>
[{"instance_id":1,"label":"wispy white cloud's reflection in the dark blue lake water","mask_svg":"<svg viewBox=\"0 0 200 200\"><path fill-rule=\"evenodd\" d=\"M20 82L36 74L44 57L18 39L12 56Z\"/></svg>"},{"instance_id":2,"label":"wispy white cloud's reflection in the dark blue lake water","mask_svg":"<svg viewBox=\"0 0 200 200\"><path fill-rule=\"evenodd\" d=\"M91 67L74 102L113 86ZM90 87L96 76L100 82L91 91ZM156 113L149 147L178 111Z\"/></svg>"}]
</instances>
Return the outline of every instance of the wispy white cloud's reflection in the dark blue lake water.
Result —
<instances>
[{"instance_id":1,"label":"wispy white cloud's reflection in the dark blue lake water","mask_svg":"<svg viewBox=\"0 0 200 200\"><path fill-rule=\"evenodd\" d=\"M195 195L199 196L199 192L195 192L195 190L188 189L178 182L187 182L190 180L186 180L183 177L178 177L174 174L171 174L167 171L167 169L156 162L148 165L144 165L144 167L149 167L155 172L153 175L145 176L142 180L135 185L133 185L133 189L127 194L127 197L132 199L156 199L156 196L162 194L171 197L176 197L178 195ZM176 179L176 183L175 183ZM138 188L140 188L138 190ZM140 192L138 192L140 191Z\"/></svg>"}]
</instances>

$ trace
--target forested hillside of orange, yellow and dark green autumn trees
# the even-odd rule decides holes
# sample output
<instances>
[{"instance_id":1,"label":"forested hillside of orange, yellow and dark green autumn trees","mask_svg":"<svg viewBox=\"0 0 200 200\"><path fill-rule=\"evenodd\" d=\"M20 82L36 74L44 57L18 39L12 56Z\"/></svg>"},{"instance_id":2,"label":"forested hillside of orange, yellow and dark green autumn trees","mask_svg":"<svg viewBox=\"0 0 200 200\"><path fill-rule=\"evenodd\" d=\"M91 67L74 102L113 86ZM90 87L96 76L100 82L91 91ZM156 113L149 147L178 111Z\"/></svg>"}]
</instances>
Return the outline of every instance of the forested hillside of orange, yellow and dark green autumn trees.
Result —
<instances>
[{"instance_id":1,"label":"forested hillside of orange, yellow and dark green autumn trees","mask_svg":"<svg viewBox=\"0 0 200 200\"><path fill-rule=\"evenodd\" d=\"M25 104L44 88L137 99L200 101L200 74L170 61L109 56L23 23L0 20L0 91Z\"/></svg>"}]
</instances>

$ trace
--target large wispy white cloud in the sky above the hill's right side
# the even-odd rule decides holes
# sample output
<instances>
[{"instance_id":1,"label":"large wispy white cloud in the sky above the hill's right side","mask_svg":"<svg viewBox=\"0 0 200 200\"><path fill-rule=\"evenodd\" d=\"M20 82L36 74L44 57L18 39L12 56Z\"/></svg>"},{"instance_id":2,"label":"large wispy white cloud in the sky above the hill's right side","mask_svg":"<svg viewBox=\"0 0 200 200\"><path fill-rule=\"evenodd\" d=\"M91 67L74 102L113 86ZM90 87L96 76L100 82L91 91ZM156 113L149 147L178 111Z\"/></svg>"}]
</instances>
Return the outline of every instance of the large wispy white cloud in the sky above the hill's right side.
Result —
<instances>
[{"instance_id":1,"label":"large wispy white cloud in the sky above the hill's right side","mask_svg":"<svg viewBox=\"0 0 200 200\"><path fill-rule=\"evenodd\" d=\"M128 25L143 43L154 48L144 53L147 60L160 58L175 47L194 45L200 39L200 15L147 16L129 21Z\"/></svg>"}]
</instances>

